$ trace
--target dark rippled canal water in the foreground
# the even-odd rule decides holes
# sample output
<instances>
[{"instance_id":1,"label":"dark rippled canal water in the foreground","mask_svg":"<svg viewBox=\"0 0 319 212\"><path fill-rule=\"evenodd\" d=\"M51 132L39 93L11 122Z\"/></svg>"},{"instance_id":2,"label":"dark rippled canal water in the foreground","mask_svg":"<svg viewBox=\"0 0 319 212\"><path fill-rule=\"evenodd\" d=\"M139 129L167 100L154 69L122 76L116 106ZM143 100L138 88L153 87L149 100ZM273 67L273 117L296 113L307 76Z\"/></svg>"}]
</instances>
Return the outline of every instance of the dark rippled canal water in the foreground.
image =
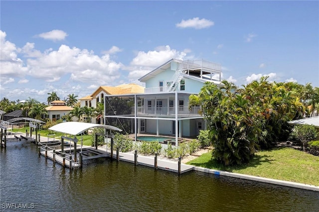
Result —
<instances>
[{"instance_id":1,"label":"dark rippled canal water in the foreground","mask_svg":"<svg viewBox=\"0 0 319 212\"><path fill-rule=\"evenodd\" d=\"M319 192L105 158L70 171L20 141L0 151L0 211L317 212Z\"/></svg>"}]
</instances>

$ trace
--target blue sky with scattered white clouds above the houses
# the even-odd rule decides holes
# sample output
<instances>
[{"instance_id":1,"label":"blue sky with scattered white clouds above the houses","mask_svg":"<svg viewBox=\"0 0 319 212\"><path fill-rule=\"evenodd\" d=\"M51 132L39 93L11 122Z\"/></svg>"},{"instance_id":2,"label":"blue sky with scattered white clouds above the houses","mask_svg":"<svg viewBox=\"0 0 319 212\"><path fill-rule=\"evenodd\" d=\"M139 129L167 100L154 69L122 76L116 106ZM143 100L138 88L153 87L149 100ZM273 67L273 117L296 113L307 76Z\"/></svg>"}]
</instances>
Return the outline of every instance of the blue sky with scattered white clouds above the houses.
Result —
<instances>
[{"instance_id":1,"label":"blue sky with scattered white clouds above the houses","mask_svg":"<svg viewBox=\"0 0 319 212\"><path fill-rule=\"evenodd\" d=\"M0 1L0 99L143 85L172 58L319 87L319 1Z\"/></svg>"}]
</instances>

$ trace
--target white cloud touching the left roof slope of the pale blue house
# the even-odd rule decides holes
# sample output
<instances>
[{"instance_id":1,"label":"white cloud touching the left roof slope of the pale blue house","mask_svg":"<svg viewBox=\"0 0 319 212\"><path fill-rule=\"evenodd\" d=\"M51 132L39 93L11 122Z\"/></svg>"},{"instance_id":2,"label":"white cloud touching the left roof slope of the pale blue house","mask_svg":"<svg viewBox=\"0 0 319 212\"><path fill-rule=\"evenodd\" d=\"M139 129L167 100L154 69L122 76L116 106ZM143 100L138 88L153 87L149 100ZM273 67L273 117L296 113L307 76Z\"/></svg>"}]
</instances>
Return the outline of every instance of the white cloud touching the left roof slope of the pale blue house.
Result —
<instances>
[{"instance_id":1,"label":"white cloud touching the left roof slope of the pale blue house","mask_svg":"<svg viewBox=\"0 0 319 212\"><path fill-rule=\"evenodd\" d=\"M184 51L170 49L168 45L159 46L154 51L138 52L130 66L125 69L130 71L128 78L134 81L172 58L182 60L185 56L186 52Z\"/></svg>"}]
</instances>

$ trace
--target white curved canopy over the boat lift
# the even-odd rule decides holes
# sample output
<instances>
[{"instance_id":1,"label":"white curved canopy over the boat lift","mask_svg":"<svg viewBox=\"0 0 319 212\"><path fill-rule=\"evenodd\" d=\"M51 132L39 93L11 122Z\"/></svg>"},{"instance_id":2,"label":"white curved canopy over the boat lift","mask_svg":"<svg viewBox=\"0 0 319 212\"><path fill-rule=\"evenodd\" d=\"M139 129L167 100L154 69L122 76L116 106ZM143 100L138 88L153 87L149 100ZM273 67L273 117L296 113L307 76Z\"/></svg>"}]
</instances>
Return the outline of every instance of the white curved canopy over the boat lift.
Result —
<instances>
[{"instance_id":1,"label":"white curved canopy over the boat lift","mask_svg":"<svg viewBox=\"0 0 319 212\"><path fill-rule=\"evenodd\" d=\"M82 132L84 132L90 128L94 128L94 127L111 129L111 130L116 130L116 131L120 131L120 132L122 131L122 129L117 128L115 126L111 126L111 125L83 123L83 122L76 122L76 121L62 122L62 123L56 124L54 126L51 126L49 129L57 131L57 132L71 134L71 135L78 135L78 134L81 134Z\"/></svg>"}]
</instances>

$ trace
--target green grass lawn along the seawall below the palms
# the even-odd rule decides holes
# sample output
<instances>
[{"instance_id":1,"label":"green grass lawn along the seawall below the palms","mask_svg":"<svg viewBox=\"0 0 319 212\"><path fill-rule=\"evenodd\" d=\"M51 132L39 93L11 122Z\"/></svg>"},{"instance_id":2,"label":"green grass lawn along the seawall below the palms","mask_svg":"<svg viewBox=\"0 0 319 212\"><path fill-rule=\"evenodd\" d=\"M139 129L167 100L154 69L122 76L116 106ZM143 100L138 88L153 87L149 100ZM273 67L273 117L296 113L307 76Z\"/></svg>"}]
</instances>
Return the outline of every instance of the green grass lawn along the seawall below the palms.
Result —
<instances>
[{"instance_id":1,"label":"green grass lawn along the seawall below the palms","mask_svg":"<svg viewBox=\"0 0 319 212\"><path fill-rule=\"evenodd\" d=\"M222 166L211 160L211 152L186 164L319 186L319 157L287 147L257 152L250 164L240 166Z\"/></svg>"}]
</instances>

